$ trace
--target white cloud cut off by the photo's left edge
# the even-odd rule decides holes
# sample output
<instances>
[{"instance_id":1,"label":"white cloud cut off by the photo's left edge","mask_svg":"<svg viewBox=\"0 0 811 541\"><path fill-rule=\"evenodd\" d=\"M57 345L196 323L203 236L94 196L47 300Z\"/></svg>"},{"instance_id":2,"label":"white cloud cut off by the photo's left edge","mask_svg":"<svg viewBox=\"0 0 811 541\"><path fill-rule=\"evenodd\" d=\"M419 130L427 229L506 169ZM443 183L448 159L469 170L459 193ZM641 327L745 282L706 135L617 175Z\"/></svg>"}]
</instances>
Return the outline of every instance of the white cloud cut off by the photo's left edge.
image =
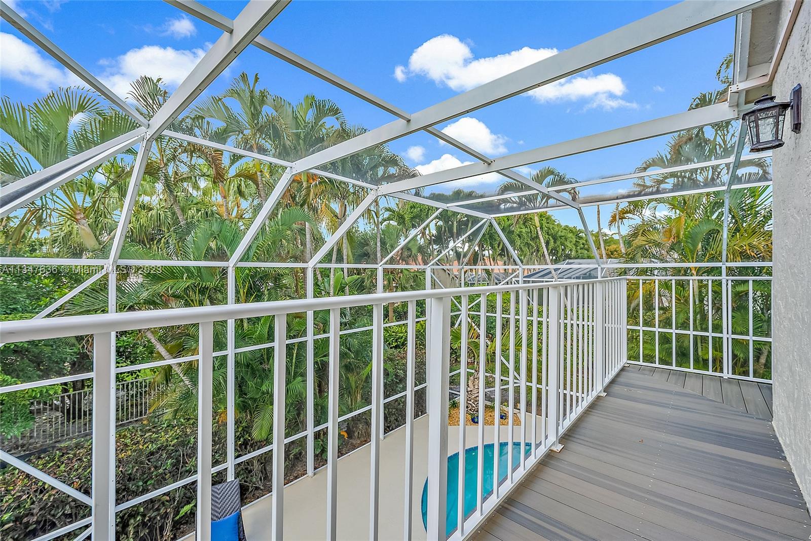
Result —
<instances>
[{"instance_id":1,"label":"white cloud cut off by the photo's left edge","mask_svg":"<svg viewBox=\"0 0 811 541\"><path fill-rule=\"evenodd\" d=\"M81 84L70 71L42 55L36 47L19 37L0 32L0 71L4 78L45 92L56 87Z\"/></svg>"}]
</instances>

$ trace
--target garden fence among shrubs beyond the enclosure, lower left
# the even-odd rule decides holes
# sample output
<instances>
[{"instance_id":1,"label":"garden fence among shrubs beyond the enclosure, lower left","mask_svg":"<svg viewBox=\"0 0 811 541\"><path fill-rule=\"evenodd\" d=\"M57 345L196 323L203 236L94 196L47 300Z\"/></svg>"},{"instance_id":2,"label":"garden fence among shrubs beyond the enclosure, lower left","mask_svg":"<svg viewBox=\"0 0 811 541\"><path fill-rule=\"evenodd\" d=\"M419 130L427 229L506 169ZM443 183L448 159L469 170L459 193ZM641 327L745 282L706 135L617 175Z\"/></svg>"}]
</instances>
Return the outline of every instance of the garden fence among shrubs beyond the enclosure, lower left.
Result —
<instances>
[{"instance_id":1,"label":"garden fence among shrubs beyond the enclosure, lower left","mask_svg":"<svg viewBox=\"0 0 811 541\"><path fill-rule=\"evenodd\" d=\"M116 424L144 419L149 412L152 378L118 381L116 384ZM29 403L34 420L31 428L19 434L0 436L5 451L42 449L72 437L92 432L92 388L33 399ZM2 407L0 407L2 415Z\"/></svg>"}]
</instances>

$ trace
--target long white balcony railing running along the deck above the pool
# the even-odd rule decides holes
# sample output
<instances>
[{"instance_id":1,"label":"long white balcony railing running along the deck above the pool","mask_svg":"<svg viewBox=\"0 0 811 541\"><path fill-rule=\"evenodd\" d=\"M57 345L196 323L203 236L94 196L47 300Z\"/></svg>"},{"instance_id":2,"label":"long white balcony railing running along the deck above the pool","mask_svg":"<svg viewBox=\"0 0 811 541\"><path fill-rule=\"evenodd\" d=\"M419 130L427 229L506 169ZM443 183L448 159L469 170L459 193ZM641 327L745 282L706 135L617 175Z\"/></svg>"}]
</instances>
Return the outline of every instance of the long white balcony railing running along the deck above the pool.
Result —
<instances>
[{"instance_id":1,"label":"long white balcony railing running along the deck above the pool","mask_svg":"<svg viewBox=\"0 0 811 541\"><path fill-rule=\"evenodd\" d=\"M72 526L88 526L97 539L113 539L115 513L132 505L160 496L187 483L197 482L197 537L210 539L210 506L212 472L229 469L230 464L212 464L212 368L213 322L236 320L250 317L274 317L274 341L267 344L273 347L275 363L273 370L273 430L272 443L250 454L235 457L241 462L264 453L272 453L272 512L271 531L274 539L282 539L285 460L285 445L307 432L287 437L285 434L285 381L287 345L287 316L293 313L313 313L329 310L328 334L328 389L337 389L339 373L341 330L341 309L371 305L373 311L372 363L371 363L371 404L362 411L371 412L370 453L370 538L377 537L380 502L380 437L382 434L382 410L384 403L398 397L384 399L382 389L383 368L383 329L384 305L407 303L407 389L405 391L406 415L406 457L405 491L406 508L404 536L410 536L410 505L414 503L413 487L413 445L414 445L414 355L417 341L416 307L418 302L426 302L426 350L427 350L427 405L429 439L431 449L428 463L428 514L427 533L429 539L444 539L445 487L447 483L448 401L450 398L449 378L460 377L460 411L466 411L466 386L471 373L478 370L482 385L479 386L479 423L475 441L466 441L464 422L458 432L460 449L478 449L478 486L482 493L483 446L487 440L486 431L492 431L494 440L494 471L500 474L498 461L500 442L506 439L508 449L507 477L495 483L493 490L479 499L472 513L461 507L464 497L460 497L458 521L452 539L462 539L483 520L507 495L523 475L549 449L560 449L560 435L585 411L586 407L601 393L603 386L611 380L626 358L625 328L626 280L599 279L577 282L511 284L482 288L453 288L434 291L396 292L375 295L344 296L328 299L287 300L279 302L246 305L219 305L200 308L166 309L132 313L114 313L79 317L58 317L37 322L5 322L0 327L2 342L20 342L38 339L52 339L65 336L93 334L93 389L92 394L92 496L87 496L58 480L37 471L27 463L0 451L0 458L12 466L19 467L37 479L67 492L79 501L92 506L92 522L75 522ZM452 303L458 310L451 309ZM476 307L478 305L478 308ZM504 310L506 307L506 313ZM492 309L492 310L491 310ZM459 315L454 324L452 317ZM159 488L137 498L115 505L114 479L114 415L116 411L115 375L121 368L114 368L114 333L122 330L155 328L160 326L200 325L199 352L182 360L197 360L198 387L198 475L192 475L164 488ZM462 328L461 344L450 347L450 332L454 325ZM469 351L468 333L471 328L487 328L492 339L479 340L478 356ZM490 332L492 330L493 332ZM531 345L530 345L531 344ZM478 362L479 359L485 362ZM150 365L178 362L178 359L157 361ZM453 363L453 370L452 370ZM456 364L458 363L458 368ZM487 379L491 381L488 388ZM496 384L496 381L498 382ZM0 389L2 392L4 389ZM506 391L506 392L504 392ZM529 395L529 396L528 396ZM327 486L328 539L334 539L337 527L337 466L338 466L338 394L328 395L328 422L314 430L326 428L328 431ZM491 428L485 427L484 409L489 402L496 419L500 411L508 412L506 434L498 421ZM233 403L230 401L230 403ZM505 408L505 409L504 409ZM355 411L357 415L361 411ZM514 418L518 415L521 426L515 430ZM460 415L464 419L464 415ZM518 445L518 451L516 445ZM526 451L525 451L526 449ZM516 453L520 456L516 457ZM464 452L460 453L461 484L459 493L463 495ZM231 467L233 471L233 466ZM495 475L499 479L499 475ZM450 528L448 528L450 529ZM41 536L53 539L60 533L70 531L68 526L58 532Z\"/></svg>"}]
</instances>

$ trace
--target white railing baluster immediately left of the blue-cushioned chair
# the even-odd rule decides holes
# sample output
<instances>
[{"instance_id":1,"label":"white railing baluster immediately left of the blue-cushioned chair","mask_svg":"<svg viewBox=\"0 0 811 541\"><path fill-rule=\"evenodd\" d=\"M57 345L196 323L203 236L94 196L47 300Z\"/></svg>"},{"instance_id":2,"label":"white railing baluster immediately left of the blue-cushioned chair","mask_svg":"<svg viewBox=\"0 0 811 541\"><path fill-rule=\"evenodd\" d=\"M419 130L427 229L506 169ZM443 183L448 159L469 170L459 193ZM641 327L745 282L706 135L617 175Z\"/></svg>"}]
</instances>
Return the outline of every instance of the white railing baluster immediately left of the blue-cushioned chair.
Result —
<instances>
[{"instance_id":1,"label":"white railing baluster immediately left of the blue-cushioned chair","mask_svg":"<svg viewBox=\"0 0 811 541\"><path fill-rule=\"evenodd\" d=\"M212 398L214 323L200 323L197 363L197 539L211 541Z\"/></svg>"}]
</instances>

